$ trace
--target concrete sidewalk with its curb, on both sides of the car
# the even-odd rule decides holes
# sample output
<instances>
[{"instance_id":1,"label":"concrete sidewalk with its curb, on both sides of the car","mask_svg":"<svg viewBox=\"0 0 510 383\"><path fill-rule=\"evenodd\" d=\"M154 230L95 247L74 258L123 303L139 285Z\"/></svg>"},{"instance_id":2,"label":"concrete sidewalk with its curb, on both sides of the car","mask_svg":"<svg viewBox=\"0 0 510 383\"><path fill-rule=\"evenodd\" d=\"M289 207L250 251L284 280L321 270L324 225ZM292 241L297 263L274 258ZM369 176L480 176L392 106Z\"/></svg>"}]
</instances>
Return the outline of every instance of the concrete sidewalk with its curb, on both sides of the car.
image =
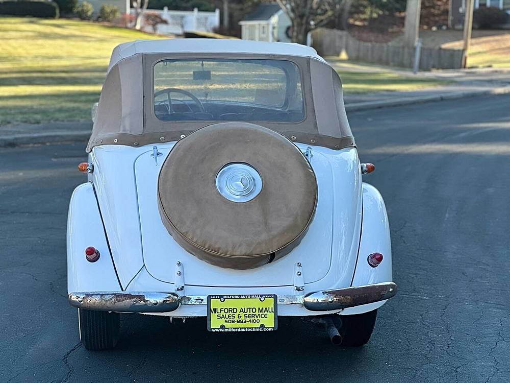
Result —
<instances>
[{"instance_id":1,"label":"concrete sidewalk with its curb, on both sides of the car","mask_svg":"<svg viewBox=\"0 0 510 383\"><path fill-rule=\"evenodd\" d=\"M331 62L341 70L360 71L360 66ZM343 65L343 66L342 66ZM387 67L363 65L365 71L391 71L399 75L413 76L410 71ZM452 100L466 97L481 97L488 94L510 93L510 70L442 70L421 72L416 76L440 78L453 81L447 86L424 88L417 91L377 92L347 94L344 97L347 112L425 103L430 101ZM90 136L92 122L46 123L38 125L0 126L0 148L20 145L40 145L83 141Z\"/></svg>"}]
</instances>

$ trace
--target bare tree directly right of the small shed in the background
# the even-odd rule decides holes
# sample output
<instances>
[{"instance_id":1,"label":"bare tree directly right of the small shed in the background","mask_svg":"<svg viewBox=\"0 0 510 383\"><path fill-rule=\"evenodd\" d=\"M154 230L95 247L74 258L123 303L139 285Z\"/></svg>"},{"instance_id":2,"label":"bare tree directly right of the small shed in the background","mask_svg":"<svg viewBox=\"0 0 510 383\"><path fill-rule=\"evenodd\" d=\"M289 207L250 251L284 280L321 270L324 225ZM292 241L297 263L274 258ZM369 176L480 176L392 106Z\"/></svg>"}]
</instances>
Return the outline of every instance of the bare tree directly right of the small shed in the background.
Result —
<instances>
[{"instance_id":1,"label":"bare tree directly right of the small shed in the background","mask_svg":"<svg viewBox=\"0 0 510 383\"><path fill-rule=\"evenodd\" d=\"M292 41L300 44L306 44L307 34L313 28L321 27L339 17L339 12L348 11L352 3L351 0L277 0L277 2L292 20Z\"/></svg>"}]
</instances>

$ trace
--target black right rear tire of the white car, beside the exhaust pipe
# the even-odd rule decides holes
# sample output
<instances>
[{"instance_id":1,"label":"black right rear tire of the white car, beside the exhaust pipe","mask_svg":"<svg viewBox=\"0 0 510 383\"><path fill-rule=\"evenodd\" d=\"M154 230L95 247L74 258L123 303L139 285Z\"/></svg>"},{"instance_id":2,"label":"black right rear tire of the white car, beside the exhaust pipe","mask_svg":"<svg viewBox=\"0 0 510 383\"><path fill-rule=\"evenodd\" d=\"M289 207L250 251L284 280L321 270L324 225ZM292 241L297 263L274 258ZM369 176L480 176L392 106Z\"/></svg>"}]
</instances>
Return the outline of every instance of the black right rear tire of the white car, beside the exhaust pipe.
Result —
<instances>
[{"instance_id":1,"label":"black right rear tire of the white car, beside the exhaust pipe","mask_svg":"<svg viewBox=\"0 0 510 383\"><path fill-rule=\"evenodd\" d=\"M345 315L340 317L342 326L339 329L342 336L342 346L360 347L366 344L372 336L377 309L364 314Z\"/></svg>"}]
</instances>

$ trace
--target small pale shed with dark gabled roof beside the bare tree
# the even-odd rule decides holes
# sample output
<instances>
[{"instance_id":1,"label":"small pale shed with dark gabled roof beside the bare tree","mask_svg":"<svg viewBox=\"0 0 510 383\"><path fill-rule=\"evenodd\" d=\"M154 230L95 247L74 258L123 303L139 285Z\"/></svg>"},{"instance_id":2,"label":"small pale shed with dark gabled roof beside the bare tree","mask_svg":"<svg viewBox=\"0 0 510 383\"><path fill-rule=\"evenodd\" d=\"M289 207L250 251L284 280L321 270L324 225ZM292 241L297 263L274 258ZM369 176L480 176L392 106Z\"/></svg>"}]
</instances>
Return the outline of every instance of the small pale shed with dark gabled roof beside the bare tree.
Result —
<instances>
[{"instance_id":1,"label":"small pale shed with dark gabled roof beside the bare tree","mask_svg":"<svg viewBox=\"0 0 510 383\"><path fill-rule=\"evenodd\" d=\"M239 25L243 40L291 41L291 20L276 3L259 5Z\"/></svg>"}]
</instances>

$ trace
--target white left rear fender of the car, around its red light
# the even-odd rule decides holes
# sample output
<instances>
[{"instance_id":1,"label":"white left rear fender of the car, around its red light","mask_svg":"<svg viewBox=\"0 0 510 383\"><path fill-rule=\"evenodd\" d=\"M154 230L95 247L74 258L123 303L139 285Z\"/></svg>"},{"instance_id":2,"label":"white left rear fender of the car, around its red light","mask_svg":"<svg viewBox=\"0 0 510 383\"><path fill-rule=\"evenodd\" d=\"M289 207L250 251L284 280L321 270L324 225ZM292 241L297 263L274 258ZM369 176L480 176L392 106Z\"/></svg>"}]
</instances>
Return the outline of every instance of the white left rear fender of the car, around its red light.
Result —
<instances>
[{"instance_id":1,"label":"white left rear fender of the car, around its red light","mask_svg":"<svg viewBox=\"0 0 510 383\"><path fill-rule=\"evenodd\" d=\"M99 251L99 259L89 262L85 249ZM92 183L74 189L67 217L67 291L122 291L115 272L105 228Z\"/></svg>"}]
</instances>

